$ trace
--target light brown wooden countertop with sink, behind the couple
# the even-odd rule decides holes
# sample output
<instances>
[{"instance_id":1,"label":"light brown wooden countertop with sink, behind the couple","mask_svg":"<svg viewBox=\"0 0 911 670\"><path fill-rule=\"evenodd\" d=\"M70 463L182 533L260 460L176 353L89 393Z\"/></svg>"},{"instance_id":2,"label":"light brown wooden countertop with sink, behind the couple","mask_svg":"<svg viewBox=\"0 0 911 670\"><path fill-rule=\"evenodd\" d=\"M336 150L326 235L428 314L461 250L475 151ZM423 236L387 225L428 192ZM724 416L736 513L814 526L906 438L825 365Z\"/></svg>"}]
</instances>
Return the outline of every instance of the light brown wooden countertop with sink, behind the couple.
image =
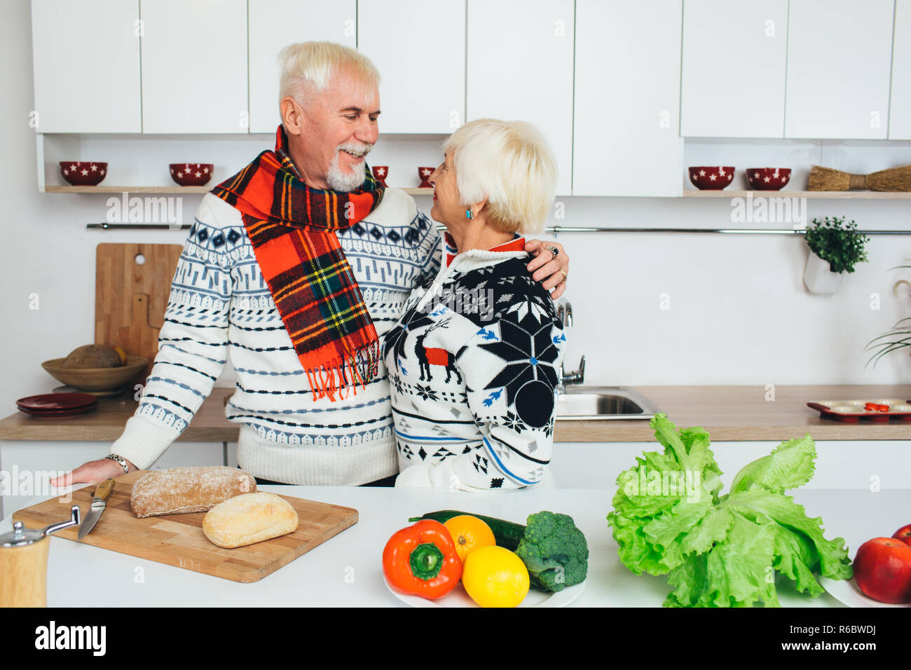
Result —
<instances>
[{"instance_id":1,"label":"light brown wooden countertop with sink, behind the couple","mask_svg":"<svg viewBox=\"0 0 911 670\"><path fill-rule=\"evenodd\" d=\"M911 399L911 385L903 386L780 386L766 399L763 386L634 387L648 397L679 427L701 426L720 440L783 440L810 433L814 439L911 439L911 422L893 419L875 424L861 419L845 424L824 419L806 407L809 400L853 398ZM234 388L216 387L203 402L180 442L236 442L240 427L225 418L225 398ZM0 439L113 442L120 437L138 403L132 397L98 398L88 414L61 419L29 417L22 412L0 420ZM647 421L558 420L558 442L651 442Z\"/></svg>"}]
</instances>

